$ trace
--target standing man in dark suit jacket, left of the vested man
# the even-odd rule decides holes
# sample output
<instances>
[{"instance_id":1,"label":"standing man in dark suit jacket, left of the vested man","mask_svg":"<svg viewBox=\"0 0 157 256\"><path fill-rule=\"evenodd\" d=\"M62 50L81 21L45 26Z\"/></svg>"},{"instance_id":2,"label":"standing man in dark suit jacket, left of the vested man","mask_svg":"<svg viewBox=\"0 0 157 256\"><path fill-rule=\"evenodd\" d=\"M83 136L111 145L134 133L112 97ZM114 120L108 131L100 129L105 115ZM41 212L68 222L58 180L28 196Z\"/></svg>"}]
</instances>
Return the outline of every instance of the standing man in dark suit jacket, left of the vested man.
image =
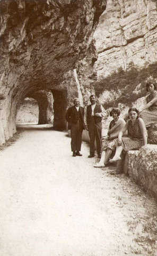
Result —
<instances>
[{"instance_id":1,"label":"standing man in dark suit jacket, left of the vested man","mask_svg":"<svg viewBox=\"0 0 157 256\"><path fill-rule=\"evenodd\" d=\"M82 144L82 132L84 125L84 108L80 106L79 98L74 99L74 106L67 109L65 119L68 122L68 130L71 130L71 148L73 156L80 154Z\"/></svg>"}]
</instances>

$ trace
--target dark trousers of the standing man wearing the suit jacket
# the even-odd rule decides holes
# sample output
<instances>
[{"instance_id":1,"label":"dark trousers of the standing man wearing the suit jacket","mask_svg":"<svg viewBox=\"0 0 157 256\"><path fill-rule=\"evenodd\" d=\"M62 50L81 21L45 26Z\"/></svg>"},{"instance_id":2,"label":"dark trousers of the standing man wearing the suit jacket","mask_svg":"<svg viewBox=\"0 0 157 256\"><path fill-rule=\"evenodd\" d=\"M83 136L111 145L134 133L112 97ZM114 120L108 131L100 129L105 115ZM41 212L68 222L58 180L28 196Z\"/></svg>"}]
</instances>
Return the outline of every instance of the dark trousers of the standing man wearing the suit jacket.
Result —
<instances>
[{"instance_id":1,"label":"dark trousers of the standing man wearing the suit jacket","mask_svg":"<svg viewBox=\"0 0 157 256\"><path fill-rule=\"evenodd\" d=\"M78 121L76 124L72 124L71 127L71 148L72 151L80 151L82 144L82 124Z\"/></svg>"}]
</instances>

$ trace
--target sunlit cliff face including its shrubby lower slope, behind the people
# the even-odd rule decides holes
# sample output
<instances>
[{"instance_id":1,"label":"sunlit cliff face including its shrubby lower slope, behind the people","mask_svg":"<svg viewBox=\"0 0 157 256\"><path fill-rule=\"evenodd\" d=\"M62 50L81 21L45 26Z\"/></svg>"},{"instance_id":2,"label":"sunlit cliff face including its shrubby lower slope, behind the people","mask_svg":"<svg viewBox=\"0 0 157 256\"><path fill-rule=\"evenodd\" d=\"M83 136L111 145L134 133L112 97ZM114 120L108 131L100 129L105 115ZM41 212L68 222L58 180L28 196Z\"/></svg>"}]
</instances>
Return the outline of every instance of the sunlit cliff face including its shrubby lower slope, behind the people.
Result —
<instances>
[{"instance_id":1,"label":"sunlit cliff face including its shrubby lower slope, behind the people","mask_svg":"<svg viewBox=\"0 0 157 256\"><path fill-rule=\"evenodd\" d=\"M157 73L157 2L108 0L94 33L95 91L104 107L139 106L145 82Z\"/></svg>"}]
</instances>

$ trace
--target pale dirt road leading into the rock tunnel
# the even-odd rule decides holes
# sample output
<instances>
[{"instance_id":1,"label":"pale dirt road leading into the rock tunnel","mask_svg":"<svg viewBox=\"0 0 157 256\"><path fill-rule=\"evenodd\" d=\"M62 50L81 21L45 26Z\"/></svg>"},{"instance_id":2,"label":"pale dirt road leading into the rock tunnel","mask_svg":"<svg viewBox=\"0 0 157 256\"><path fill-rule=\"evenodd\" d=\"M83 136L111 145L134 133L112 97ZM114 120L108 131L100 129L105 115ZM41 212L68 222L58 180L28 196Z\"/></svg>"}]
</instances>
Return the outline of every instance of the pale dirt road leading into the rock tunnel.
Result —
<instances>
[{"instance_id":1,"label":"pale dirt road leading into the rock tunnel","mask_svg":"<svg viewBox=\"0 0 157 256\"><path fill-rule=\"evenodd\" d=\"M21 127L22 128L22 127ZM156 202L83 142L27 125L0 151L1 256L157 255Z\"/></svg>"}]
</instances>

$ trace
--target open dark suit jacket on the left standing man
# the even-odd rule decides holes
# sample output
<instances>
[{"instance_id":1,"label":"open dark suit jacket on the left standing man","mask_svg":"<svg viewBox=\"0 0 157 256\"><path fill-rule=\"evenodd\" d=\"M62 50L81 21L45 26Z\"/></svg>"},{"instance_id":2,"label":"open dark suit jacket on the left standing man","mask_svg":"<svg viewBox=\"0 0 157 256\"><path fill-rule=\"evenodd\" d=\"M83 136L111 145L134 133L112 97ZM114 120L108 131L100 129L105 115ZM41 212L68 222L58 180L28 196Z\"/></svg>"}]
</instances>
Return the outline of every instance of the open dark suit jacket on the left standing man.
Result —
<instances>
[{"instance_id":1,"label":"open dark suit jacket on the left standing man","mask_svg":"<svg viewBox=\"0 0 157 256\"><path fill-rule=\"evenodd\" d=\"M84 124L84 108L80 106L81 118L82 118L82 129L85 130ZM72 123L76 123L75 115L77 114L77 109L75 106L69 107L66 111L65 119L68 122L68 129L71 129Z\"/></svg>"}]
</instances>

